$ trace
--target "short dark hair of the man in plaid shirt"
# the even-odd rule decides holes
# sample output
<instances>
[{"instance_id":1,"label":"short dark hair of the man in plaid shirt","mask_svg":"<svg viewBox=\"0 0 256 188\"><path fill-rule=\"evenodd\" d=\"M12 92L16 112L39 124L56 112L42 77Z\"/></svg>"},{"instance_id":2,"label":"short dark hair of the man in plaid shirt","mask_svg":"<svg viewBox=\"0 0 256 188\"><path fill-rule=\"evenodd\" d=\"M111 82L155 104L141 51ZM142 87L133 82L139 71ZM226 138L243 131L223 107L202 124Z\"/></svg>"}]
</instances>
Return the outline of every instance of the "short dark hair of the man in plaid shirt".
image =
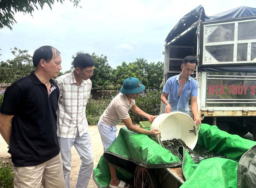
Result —
<instances>
[{"instance_id":1,"label":"short dark hair of the man in plaid shirt","mask_svg":"<svg viewBox=\"0 0 256 188\"><path fill-rule=\"evenodd\" d=\"M84 69L86 67L92 67L95 62L89 53L78 52L74 58L74 68Z\"/></svg>"}]
</instances>

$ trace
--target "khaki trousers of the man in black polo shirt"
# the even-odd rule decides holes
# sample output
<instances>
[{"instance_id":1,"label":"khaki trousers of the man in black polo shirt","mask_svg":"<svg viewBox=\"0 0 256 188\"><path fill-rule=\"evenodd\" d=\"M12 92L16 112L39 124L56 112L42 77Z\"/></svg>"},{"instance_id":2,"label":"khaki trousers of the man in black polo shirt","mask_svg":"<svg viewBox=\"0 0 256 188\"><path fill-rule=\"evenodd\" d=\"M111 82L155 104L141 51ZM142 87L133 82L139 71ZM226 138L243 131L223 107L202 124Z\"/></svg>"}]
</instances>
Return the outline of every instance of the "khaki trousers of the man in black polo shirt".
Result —
<instances>
[{"instance_id":1,"label":"khaki trousers of the man in black polo shirt","mask_svg":"<svg viewBox=\"0 0 256 188\"><path fill-rule=\"evenodd\" d=\"M14 188L64 188L62 159L60 153L37 166L14 167Z\"/></svg>"}]
</instances>

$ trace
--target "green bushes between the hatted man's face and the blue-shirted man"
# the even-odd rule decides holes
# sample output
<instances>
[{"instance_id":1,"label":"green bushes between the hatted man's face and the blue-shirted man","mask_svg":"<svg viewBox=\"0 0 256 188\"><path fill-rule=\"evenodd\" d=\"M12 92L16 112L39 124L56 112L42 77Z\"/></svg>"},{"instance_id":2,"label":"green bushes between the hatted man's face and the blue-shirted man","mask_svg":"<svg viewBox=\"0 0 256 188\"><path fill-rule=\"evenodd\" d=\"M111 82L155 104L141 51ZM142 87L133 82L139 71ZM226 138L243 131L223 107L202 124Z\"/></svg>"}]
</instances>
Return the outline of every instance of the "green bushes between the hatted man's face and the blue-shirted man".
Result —
<instances>
[{"instance_id":1,"label":"green bushes between the hatted man's face and the blue-shirted man","mask_svg":"<svg viewBox=\"0 0 256 188\"><path fill-rule=\"evenodd\" d=\"M150 115L159 115L161 92L162 91L159 89L147 89L141 92L139 98L136 99L136 106ZM140 121L147 121L147 119L137 115L131 110L129 114L135 124L138 124Z\"/></svg>"}]
</instances>

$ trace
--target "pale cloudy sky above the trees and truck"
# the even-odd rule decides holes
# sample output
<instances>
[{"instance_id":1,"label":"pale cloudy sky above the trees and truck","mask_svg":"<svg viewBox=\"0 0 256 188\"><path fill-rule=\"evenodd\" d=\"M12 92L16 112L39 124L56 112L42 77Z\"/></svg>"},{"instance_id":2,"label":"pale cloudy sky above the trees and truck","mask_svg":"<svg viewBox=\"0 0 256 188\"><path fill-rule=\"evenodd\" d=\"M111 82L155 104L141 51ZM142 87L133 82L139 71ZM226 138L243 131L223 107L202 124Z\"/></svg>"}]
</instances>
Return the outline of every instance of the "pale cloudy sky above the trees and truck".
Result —
<instances>
[{"instance_id":1,"label":"pale cloudy sky above the trees and truck","mask_svg":"<svg viewBox=\"0 0 256 188\"><path fill-rule=\"evenodd\" d=\"M163 62L168 33L198 5L208 16L239 6L256 7L255 0L81 0L79 5L82 8L68 0L56 1L52 10L45 5L33 17L16 13L13 29L0 29L0 61L13 59L14 47L33 55L38 47L50 45L61 52L63 72L79 51L106 55L112 68L136 58Z\"/></svg>"}]
</instances>

